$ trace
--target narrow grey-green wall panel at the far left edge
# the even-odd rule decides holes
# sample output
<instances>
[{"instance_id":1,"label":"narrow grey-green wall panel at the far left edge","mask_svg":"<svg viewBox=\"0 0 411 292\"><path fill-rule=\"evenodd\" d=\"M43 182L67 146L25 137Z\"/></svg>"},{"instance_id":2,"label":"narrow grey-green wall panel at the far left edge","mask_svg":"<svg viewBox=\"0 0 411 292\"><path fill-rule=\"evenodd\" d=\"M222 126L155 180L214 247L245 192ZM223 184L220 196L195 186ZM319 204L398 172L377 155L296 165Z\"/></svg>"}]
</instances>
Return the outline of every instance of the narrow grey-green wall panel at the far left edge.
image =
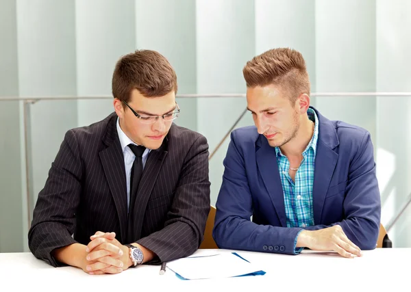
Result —
<instances>
[{"instance_id":1,"label":"narrow grey-green wall panel at the far left edge","mask_svg":"<svg viewBox=\"0 0 411 292\"><path fill-rule=\"evenodd\" d=\"M0 96L18 96L16 3L2 1L0 9ZM23 169L19 120L20 103L0 104L0 252L23 250ZM12 224L10 224L12 218Z\"/></svg>"}]
</instances>

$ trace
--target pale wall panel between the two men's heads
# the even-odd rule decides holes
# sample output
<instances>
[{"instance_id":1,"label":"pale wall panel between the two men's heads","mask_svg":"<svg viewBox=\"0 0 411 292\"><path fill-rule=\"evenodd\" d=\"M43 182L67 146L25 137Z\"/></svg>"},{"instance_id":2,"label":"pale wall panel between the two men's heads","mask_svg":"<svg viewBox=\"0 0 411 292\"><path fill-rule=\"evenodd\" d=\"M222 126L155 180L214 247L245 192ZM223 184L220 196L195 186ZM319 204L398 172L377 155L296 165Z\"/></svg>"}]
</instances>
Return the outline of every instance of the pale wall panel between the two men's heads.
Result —
<instances>
[{"instance_id":1,"label":"pale wall panel between the two men's heads","mask_svg":"<svg viewBox=\"0 0 411 292\"><path fill-rule=\"evenodd\" d=\"M197 92L243 93L242 67L254 55L253 1L197 1ZM198 98L198 131L208 138L210 153L240 113L245 98ZM223 157L229 139L210 160L211 203L223 176Z\"/></svg>"}]
</instances>

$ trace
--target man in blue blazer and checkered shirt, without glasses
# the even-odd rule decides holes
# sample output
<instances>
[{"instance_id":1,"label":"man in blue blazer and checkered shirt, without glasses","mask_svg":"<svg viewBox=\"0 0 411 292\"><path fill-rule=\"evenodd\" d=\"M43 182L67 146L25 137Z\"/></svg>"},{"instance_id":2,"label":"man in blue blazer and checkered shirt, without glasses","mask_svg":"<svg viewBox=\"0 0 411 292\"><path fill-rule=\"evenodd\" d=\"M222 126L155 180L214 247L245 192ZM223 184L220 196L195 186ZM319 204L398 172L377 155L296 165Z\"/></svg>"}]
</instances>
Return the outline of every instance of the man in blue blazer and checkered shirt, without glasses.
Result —
<instances>
[{"instance_id":1,"label":"man in blue blazer and checkered shirt, without glasses","mask_svg":"<svg viewBox=\"0 0 411 292\"><path fill-rule=\"evenodd\" d=\"M266 51L243 75L256 127L231 135L213 230L219 248L345 257L375 248L381 201L369 132L310 107L298 51Z\"/></svg>"}]
</instances>

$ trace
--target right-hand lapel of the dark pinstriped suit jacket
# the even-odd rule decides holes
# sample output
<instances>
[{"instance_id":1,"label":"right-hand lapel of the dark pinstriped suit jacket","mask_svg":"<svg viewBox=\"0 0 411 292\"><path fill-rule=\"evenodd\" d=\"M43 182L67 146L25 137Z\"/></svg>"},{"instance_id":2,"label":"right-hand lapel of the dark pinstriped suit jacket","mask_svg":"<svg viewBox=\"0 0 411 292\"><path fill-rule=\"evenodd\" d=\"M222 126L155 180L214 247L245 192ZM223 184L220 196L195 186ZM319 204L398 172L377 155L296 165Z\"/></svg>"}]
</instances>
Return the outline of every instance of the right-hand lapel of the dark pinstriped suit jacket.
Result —
<instances>
[{"instance_id":1,"label":"right-hand lapel of the dark pinstriped suit jacket","mask_svg":"<svg viewBox=\"0 0 411 292\"><path fill-rule=\"evenodd\" d=\"M167 155L166 144L167 138L164 139L160 148L150 151L144 171L142 172L140 184L138 185L136 204L134 204L134 238L136 240L140 239L147 202L149 201L151 190L157 180L164 158Z\"/></svg>"}]
</instances>

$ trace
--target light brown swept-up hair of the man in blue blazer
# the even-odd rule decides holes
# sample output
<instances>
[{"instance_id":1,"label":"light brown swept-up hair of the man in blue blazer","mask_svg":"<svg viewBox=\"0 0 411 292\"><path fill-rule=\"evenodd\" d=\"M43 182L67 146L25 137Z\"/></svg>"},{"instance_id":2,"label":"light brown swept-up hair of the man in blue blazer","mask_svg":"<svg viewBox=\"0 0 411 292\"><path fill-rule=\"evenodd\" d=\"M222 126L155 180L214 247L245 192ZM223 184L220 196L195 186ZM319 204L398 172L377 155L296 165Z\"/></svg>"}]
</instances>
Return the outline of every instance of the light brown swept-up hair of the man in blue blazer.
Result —
<instances>
[{"instance_id":1,"label":"light brown swept-up hair of the man in blue blazer","mask_svg":"<svg viewBox=\"0 0 411 292\"><path fill-rule=\"evenodd\" d=\"M253 57L242 69L242 74L248 88L279 85L288 93L292 105L300 94L310 95L306 62L294 49L271 49Z\"/></svg>"}]
</instances>

